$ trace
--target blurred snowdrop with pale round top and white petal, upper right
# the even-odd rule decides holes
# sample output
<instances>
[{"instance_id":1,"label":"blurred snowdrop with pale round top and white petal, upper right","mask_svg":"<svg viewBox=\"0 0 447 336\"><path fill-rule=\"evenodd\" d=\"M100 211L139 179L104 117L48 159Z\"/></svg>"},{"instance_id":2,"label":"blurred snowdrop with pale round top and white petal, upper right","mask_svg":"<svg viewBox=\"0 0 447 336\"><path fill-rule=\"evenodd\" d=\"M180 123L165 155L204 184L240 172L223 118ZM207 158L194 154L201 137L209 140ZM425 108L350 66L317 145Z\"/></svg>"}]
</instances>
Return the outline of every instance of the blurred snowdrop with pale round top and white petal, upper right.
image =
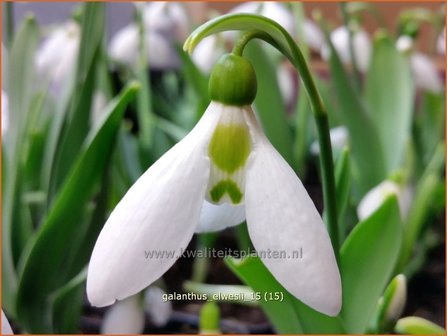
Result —
<instances>
[{"instance_id":1,"label":"blurred snowdrop with pale round top and white petal, upper right","mask_svg":"<svg viewBox=\"0 0 447 336\"><path fill-rule=\"evenodd\" d=\"M436 65L427 55L414 51L414 41L410 36L400 36L396 41L396 48L409 54L410 67L417 89L429 92L443 92L442 80L439 77Z\"/></svg>"}]
</instances>

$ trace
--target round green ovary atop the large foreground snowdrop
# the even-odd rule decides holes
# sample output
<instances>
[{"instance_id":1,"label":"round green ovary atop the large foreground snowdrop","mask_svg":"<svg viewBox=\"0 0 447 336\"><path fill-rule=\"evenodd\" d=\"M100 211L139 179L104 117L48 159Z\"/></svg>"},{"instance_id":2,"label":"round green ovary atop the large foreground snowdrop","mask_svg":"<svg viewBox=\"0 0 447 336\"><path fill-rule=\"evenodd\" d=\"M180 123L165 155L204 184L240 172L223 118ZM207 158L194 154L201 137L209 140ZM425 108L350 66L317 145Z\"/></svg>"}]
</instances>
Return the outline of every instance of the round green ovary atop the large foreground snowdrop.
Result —
<instances>
[{"instance_id":1,"label":"round green ovary atop the large foreground snowdrop","mask_svg":"<svg viewBox=\"0 0 447 336\"><path fill-rule=\"evenodd\" d=\"M213 101L233 106L250 105L256 97L256 89L253 66L241 56L222 56L211 72L208 90Z\"/></svg>"}]
</instances>

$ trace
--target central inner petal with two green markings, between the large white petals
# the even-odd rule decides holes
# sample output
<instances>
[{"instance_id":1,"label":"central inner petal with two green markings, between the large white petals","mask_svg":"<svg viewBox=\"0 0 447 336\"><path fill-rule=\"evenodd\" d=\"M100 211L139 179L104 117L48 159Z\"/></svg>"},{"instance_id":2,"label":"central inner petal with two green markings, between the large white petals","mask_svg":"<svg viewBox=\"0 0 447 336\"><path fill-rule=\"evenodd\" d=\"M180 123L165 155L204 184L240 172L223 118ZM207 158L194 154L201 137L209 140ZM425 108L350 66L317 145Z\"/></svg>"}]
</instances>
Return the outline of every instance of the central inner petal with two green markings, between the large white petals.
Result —
<instances>
[{"instance_id":1,"label":"central inner petal with two green markings, between the large white petals","mask_svg":"<svg viewBox=\"0 0 447 336\"><path fill-rule=\"evenodd\" d=\"M240 108L224 106L211 137L211 161L206 198L215 204L241 204L245 191L245 166L251 152L251 138Z\"/></svg>"}]
</instances>

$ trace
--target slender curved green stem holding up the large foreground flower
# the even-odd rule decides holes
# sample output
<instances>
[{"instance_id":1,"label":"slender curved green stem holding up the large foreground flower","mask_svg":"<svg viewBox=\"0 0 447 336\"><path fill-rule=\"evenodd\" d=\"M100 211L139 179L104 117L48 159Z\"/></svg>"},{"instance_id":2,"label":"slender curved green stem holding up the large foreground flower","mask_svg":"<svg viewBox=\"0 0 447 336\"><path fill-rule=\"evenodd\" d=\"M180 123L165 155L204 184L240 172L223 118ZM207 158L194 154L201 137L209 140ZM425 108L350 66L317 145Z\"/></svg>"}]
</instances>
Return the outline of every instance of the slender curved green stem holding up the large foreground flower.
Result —
<instances>
[{"instance_id":1,"label":"slender curved green stem holding up the large foreground flower","mask_svg":"<svg viewBox=\"0 0 447 336\"><path fill-rule=\"evenodd\" d=\"M334 248L335 257L339 260L339 230L337 220L337 203L335 190L335 176L334 176L334 161L332 158L332 146L329 133L329 119L326 107L318 92L315 80L307 65L306 59L300 48L293 41L292 37L283 31L282 34L288 42L290 54L289 60L300 73L301 81L306 88L309 100L311 102L312 111L318 130L318 142L320 145L320 166L323 184L323 198L324 206L327 213L327 225L329 236L331 237L332 246ZM240 40L235 44L233 53L242 56L243 50L248 42L254 38L260 38L282 51L282 46L269 34L262 31L249 31L245 33Z\"/></svg>"}]
</instances>

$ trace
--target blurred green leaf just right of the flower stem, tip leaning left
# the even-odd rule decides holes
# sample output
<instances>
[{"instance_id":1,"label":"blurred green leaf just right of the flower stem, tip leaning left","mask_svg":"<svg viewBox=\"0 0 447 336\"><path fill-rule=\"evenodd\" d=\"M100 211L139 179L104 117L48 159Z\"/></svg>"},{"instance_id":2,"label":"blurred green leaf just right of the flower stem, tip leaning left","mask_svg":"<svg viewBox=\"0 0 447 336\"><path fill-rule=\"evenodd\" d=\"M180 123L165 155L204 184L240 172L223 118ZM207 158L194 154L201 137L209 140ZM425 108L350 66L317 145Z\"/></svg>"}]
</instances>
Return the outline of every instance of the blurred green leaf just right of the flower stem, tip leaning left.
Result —
<instances>
[{"instance_id":1,"label":"blurred green leaf just right of the flower stem, tip leaning left","mask_svg":"<svg viewBox=\"0 0 447 336\"><path fill-rule=\"evenodd\" d=\"M353 175L359 183L360 193L364 194L386 177L383 149L375 124L354 89L332 42L328 37L326 40L331 48L329 67L332 87L339 104L340 118L349 131Z\"/></svg>"}]
</instances>

